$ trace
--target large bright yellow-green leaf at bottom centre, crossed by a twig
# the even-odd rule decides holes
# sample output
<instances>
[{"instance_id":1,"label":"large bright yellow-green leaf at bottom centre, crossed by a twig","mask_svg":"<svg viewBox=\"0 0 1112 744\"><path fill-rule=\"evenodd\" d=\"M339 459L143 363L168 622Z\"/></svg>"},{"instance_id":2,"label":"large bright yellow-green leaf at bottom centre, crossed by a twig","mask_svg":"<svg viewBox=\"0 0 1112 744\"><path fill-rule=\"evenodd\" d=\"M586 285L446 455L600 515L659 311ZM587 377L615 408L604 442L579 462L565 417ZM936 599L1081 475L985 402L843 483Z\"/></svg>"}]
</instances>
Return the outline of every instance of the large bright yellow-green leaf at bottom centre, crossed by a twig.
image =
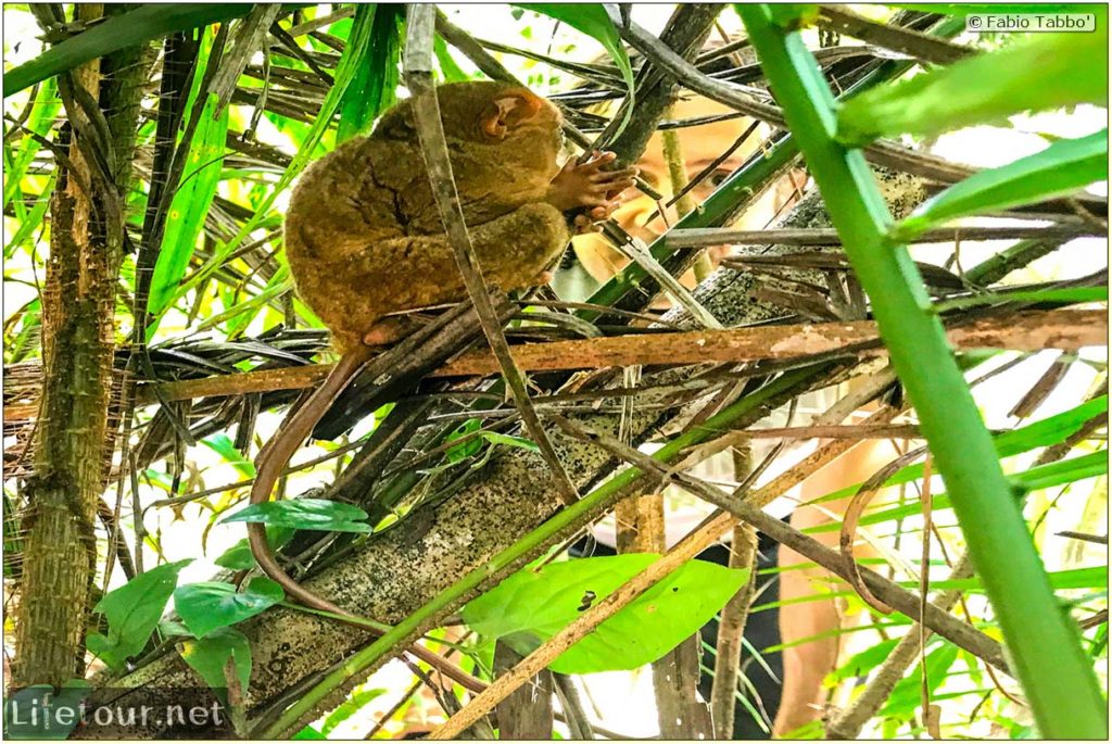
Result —
<instances>
[{"instance_id":1,"label":"large bright yellow-green leaf at bottom centre, crossed by a twig","mask_svg":"<svg viewBox=\"0 0 1112 744\"><path fill-rule=\"evenodd\" d=\"M659 558L638 553L520 571L463 609L477 633L528 653ZM549 668L564 674L632 669L654 662L697 632L747 581L747 571L689 561Z\"/></svg>"}]
</instances>

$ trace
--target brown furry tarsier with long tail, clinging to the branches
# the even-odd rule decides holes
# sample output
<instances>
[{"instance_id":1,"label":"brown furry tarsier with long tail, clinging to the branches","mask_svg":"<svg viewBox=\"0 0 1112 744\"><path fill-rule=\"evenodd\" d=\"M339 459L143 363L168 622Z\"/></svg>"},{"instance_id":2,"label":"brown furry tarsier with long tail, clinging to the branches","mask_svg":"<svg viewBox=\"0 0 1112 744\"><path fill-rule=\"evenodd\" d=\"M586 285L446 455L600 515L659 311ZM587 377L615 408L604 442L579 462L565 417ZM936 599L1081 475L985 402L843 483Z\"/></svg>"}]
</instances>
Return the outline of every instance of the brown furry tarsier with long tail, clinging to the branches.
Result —
<instances>
[{"instance_id":1,"label":"brown furry tarsier with long tail, clinging to the branches","mask_svg":"<svg viewBox=\"0 0 1112 744\"><path fill-rule=\"evenodd\" d=\"M636 169L603 170L615 159L609 152L560 168L560 113L520 86L453 83L437 89L437 100L484 278L507 291L547 284L547 268L569 234L606 219ZM251 504L270 498L294 452L375 347L406 333L404 320L390 314L467 297L405 101L369 137L341 145L306 170L286 214L285 241L298 294L342 356L259 454ZM249 523L248 532L259 566L288 596L347 615L282 571L262 524Z\"/></svg>"}]
</instances>

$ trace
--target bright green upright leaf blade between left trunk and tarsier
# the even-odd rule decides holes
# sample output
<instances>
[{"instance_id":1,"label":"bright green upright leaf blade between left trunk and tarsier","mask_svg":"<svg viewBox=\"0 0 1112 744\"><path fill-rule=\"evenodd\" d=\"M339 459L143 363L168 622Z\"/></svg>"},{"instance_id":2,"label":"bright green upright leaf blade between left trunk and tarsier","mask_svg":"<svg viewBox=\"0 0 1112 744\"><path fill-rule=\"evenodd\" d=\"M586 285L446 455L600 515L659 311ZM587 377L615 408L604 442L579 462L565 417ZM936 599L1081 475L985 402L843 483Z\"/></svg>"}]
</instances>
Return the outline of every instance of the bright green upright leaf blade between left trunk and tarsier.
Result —
<instances>
[{"instance_id":1,"label":"bright green upright leaf blade between left trunk and tarsier","mask_svg":"<svg viewBox=\"0 0 1112 744\"><path fill-rule=\"evenodd\" d=\"M161 315L176 296L189 261L193 257L197 238L205 227L205 217L216 197L230 111L229 107L225 107L218 116L215 116L219 105L220 99L215 93L209 93L205 108L201 109L192 146L189 148L189 160L182 172L181 182L170 201L166 230L162 235L162 249L155 264L150 298L147 301L152 317ZM153 326L148 329L148 341L153 330Z\"/></svg>"}]
</instances>

